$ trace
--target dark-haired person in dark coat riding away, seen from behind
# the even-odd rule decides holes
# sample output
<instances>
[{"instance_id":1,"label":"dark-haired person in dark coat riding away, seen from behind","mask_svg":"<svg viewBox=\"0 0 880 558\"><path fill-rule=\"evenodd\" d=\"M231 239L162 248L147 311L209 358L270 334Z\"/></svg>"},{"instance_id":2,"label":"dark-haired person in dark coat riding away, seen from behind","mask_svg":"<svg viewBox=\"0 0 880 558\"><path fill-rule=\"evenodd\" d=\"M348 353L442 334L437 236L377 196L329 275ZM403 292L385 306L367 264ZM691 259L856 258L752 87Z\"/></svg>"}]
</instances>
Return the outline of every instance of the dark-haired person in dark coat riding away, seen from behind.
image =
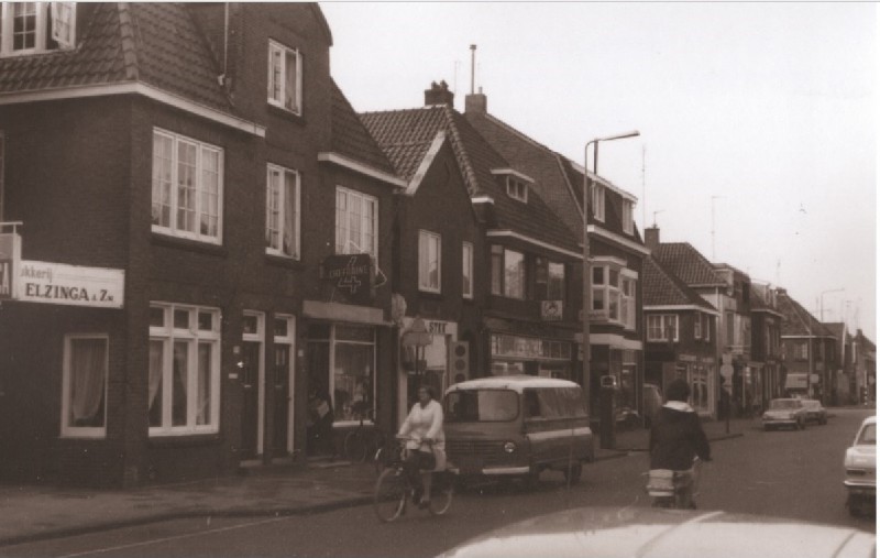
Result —
<instances>
[{"instance_id":1,"label":"dark-haired person in dark coat riding away, seen from behind","mask_svg":"<svg viewBox=\"0 0 880 558\"><path fill-rule=\"evenodd\" d=\"M691 389L688 382L673 380L667 387L667 403L660 407L651 425L648 445L651 469L669 469L688 472L684 501L693 504L694 458L711 461L708 439L703 431L700 417L688 404Z\"/></svg>"}]
</instances>

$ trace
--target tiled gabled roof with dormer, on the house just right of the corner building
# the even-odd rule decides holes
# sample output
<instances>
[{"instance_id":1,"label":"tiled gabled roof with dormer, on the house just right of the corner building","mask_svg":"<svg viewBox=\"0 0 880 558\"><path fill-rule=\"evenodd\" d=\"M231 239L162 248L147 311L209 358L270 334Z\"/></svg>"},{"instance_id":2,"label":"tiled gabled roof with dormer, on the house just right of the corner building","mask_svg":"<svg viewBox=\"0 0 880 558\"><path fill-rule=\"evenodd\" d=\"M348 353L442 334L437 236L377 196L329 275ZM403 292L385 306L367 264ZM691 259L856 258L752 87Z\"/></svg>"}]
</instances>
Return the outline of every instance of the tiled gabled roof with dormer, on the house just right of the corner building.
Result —
<instances>
[{"instance_id":1,"label":"tiled gabled roof with dormer, on the house just right of the corner building","mask_svg":"<svg viewBox=\"0 0 880 558\"><path fill-rule=\"evenodd\" d=\"M470 196L494 200L496 222L493 229L510 230L580 253L578 237L539 196L528 196L525 204L507 196L492 171L510 168L512 165L451 107L366 112L361 114L361 120L388 155L398 175L406 179L415 175L437 132L444 132Z\"/></svg>"}]
</instances>

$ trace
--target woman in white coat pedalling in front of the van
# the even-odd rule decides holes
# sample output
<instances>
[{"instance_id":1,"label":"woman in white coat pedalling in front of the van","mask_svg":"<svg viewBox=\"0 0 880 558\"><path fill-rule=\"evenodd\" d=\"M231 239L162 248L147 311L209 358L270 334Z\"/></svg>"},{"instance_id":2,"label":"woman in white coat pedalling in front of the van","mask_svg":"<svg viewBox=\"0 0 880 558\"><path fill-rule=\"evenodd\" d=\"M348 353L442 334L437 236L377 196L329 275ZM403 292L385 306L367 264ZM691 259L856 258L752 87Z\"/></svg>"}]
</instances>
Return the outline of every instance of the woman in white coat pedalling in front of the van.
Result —
<instances>
[{"instance_id":1,"label":"woman in white coat pedalling in front of the van","mask_svg":"<svg viewBox=\"0 0 880 558\"><path fill-rule=\"evenodd\" d=\"M431 471L444 467L443 407L435 400L433 387L422 385L419 401L413 405L409 416L400 425L398 437L406 438L404 470L410 485L420 486L413 495L414 503L427 507L431 501Z\"/></svg>"}]
</instances>

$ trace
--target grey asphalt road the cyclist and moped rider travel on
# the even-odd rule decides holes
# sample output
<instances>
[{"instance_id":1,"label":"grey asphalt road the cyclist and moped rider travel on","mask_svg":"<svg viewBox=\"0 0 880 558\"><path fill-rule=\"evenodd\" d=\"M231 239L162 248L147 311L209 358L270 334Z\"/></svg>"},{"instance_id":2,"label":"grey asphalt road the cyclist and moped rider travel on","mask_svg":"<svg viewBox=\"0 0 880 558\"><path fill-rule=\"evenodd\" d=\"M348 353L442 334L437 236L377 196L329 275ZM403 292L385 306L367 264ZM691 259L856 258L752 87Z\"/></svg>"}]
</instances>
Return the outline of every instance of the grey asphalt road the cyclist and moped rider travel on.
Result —
<instances>
[{"instance_id":1,"label":"grey asphalt road the cyclist and moped rider travel on","mask_svg":"<svg viewBox=\"0 0 880 558\"><path fill-rule=\"evenodd\" d=\"M875 532L873 517L849 516L842 484L844 450L872 412L834 413L827 425L805 431L765 433L756 422L744 437L713 444L700 507ZM6 547L0 556L433 556L487 529L560 508L647 506L646 469L647 457L631 453L587 467L570 490L553 472L542 474L535 490L471 488L457 494L443 517L411 508L397 523L380 524L371 506L360 506L311 516L183 519Z\"/></svg>"}]
</instances>

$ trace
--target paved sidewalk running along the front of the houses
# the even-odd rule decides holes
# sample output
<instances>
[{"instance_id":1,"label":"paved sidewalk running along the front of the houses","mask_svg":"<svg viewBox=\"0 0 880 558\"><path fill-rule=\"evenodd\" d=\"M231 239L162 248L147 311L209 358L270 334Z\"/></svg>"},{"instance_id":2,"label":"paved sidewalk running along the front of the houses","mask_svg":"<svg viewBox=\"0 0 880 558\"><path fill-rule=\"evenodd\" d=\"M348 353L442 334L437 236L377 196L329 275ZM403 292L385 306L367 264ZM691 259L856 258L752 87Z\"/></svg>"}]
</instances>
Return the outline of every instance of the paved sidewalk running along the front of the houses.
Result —
<instances>
[{"instance_id":1,"label":"paved sidewalk running along the front of the houses","mask_svg":"<svg viewBox=\"0 0 880 558\"><path fill-rule=\"evenodd\" d=\"M750 420L732 420L728 436L724 423L704 425L712 440L751 427ZM597 448L596 459L647 448L647 430L618 433L616 449ZM366 504L375 478L371 464L337 462L127 491L0 485L0 547L182 517L298 515Z\"/></svg>"}]
</instances>

